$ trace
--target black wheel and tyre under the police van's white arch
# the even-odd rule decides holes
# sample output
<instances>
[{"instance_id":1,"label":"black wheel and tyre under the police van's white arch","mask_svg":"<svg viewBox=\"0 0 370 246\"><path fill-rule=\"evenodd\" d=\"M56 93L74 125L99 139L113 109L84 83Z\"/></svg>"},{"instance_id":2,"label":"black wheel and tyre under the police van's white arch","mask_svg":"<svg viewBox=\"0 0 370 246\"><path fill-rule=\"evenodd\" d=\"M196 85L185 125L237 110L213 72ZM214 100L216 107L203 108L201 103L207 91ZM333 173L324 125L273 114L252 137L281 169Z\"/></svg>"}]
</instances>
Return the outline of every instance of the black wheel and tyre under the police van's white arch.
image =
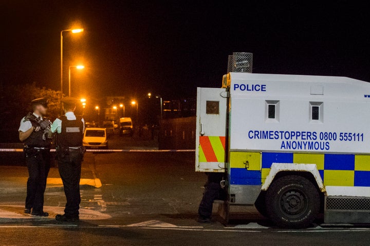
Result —
<instances>
[{"instance_id":1,"label":"black wheel and tyre under the police van's white arch","mask_svg":"<svg viewBox=\"0 0 370 246\"><path fill-rule=\"evenodd\" d=\"M320 210L320 195L315 185L296 175L273 181L265 200L268 217L283 228L307 228Z\"/></svg>"}]
</instances>

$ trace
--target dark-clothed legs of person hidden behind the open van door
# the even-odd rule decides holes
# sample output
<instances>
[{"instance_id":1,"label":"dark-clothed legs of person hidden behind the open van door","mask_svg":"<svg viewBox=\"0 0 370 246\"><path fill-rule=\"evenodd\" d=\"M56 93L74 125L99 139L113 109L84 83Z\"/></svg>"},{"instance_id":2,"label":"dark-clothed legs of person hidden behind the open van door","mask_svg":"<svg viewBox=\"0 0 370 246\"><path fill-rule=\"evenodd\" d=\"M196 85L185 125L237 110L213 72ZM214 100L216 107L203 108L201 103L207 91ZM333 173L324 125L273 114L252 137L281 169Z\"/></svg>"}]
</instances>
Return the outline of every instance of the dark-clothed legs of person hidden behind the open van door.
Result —
<instances>
[{"instance_id":1,"label":"dark-clothed legs of person hidden behind the open van door","mask_svg":"<svg viewBox=\"0 0 370 246\"><path fill-rule=\"evenodd\" d=\"M221 187L220 182L224 179L224 173L206 173L208 180L205 185L205 192L199 204L198 219L200 223L211 222L213 201L216 199L226 199L226 192Z\"/></svg>"}]
</instances>

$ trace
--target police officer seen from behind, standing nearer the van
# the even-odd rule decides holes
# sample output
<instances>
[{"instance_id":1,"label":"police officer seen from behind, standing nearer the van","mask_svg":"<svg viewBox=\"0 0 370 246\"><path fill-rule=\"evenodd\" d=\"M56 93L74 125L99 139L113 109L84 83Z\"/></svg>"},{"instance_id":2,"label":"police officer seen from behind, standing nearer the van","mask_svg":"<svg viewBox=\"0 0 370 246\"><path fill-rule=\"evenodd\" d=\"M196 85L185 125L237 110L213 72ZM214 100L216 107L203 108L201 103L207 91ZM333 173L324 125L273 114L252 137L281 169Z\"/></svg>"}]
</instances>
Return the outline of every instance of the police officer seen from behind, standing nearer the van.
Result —
<instances>
[{"instance_id":1,"label":"police officer seen from behind, standing nearer the van","mask_svg":"<svg viewBox=\"0 0 370 246\"><path fill-rule=\"evenodd\" d=\"M67 203L64 214L58 214L58 221L75 222L79 220L81 161L84 148L82 138L85 122L82 116L75 115L78 99L62 99L65 115L55 119L51 132L57 132L57 159L59 174L63 181Z\"/></svg>"}]
</instances>

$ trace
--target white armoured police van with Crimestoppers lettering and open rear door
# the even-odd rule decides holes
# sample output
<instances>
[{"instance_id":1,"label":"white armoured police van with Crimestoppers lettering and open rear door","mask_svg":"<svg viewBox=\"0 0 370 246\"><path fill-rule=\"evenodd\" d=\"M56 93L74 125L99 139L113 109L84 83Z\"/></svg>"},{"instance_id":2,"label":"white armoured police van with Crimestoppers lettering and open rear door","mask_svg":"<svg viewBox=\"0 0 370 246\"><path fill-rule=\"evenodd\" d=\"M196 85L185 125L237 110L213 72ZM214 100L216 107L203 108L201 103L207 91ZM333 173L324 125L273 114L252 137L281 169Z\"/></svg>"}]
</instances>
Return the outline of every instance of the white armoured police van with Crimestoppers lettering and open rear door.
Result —
<instances>
[{"instance_id":1,"label":"white armoured police van with Crimestoppers lettering and open rear door","mask_svg":"<svg viewBox=\"0 0 370 246\"><path fill-rule=\"evenodd\" d=\"M230 63L223 88L197 89L195 168L227 173L226 217L255 205L280 227L370 223L370 84Z\"/></svg>"}]
</instances>

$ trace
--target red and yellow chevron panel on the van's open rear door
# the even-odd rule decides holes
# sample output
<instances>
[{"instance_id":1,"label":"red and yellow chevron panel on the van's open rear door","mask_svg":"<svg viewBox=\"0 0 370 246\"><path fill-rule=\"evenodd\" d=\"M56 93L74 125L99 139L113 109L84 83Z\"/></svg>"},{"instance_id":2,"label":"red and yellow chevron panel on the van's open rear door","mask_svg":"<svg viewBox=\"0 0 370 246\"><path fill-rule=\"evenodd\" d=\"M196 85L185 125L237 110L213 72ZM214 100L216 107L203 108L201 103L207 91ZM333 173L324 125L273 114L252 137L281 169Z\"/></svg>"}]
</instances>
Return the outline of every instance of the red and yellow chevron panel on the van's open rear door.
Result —
<instances>
[{"instance_id":1,"label":"red and yellow chevron panel on the van's open rear door","mask_svg":"<svg viewBox=\"0 0 370 246\"><path fill-rule=\"evenodd\" d=\"M199 137L199 162L225 162L224 136Z\"/></svg>"}]
</instances>

